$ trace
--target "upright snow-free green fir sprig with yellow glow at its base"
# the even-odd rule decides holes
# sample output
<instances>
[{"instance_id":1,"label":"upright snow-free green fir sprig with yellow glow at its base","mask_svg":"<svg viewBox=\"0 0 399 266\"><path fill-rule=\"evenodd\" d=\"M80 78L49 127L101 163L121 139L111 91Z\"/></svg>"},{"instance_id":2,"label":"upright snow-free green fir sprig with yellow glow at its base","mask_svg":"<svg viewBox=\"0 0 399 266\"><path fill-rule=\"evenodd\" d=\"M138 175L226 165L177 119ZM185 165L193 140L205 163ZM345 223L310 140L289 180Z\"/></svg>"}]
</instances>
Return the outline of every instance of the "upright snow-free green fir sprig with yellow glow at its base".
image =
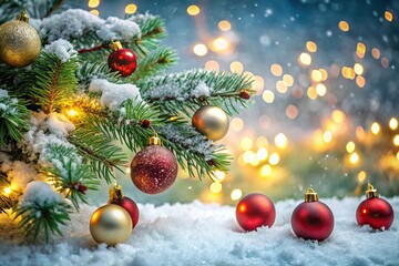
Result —
<instances>
[{"instance_id":1,"label":"upright snow-free green fir sprig with yellow glow at its base","mask_svg":"<svg viewBox=\"0 0 399 266\"><path fill-rule=\"evenodd\" d=\"M76 69L74 58L62 62L55 54L42 52L32 66L35 81L29 94L35 99L34 103L45 113L70 103L78 86Z\"/></svg>"}]
</instances>

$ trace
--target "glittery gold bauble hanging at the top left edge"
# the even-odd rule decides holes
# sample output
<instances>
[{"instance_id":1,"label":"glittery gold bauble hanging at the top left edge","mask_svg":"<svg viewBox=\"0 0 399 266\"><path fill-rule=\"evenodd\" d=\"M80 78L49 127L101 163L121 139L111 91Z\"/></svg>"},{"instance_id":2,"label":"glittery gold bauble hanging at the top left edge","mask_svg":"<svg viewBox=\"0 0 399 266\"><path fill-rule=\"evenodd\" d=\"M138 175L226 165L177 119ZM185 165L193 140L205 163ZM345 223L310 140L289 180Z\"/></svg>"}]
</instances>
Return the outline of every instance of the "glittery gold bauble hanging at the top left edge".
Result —
<instances>
[{"instance_id":1,"label":"glittery gold bauble hanging at the top left edge","mask_svg":"<svg viewBox=\"0 0 399 266\"><path fill-rule=\"evenodd\" d=\"M41 41L28 22L13 20L0 27L0 61L16 68L31 64L40 54Z\"/></svg>"}]
</instances>

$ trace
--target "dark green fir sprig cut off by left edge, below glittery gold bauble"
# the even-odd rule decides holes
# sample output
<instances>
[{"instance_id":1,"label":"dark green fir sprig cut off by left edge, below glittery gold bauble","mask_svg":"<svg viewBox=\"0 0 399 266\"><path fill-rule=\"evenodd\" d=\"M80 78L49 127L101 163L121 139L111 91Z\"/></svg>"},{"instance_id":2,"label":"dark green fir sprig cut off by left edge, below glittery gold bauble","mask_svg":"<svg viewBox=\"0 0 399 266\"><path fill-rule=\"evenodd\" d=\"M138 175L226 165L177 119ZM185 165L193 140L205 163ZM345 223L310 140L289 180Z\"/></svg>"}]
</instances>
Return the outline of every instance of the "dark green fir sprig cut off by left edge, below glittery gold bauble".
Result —
<instances>
[{"instance_id":1,"label":"dark green fir sprig cut off by left edge, below glittery gold bauble","mask_svg":"<svg viewBox=\"0 0 399 266\"><path fill-rule=\"evenodd\" d=\"M0 147L11 140L19 142L29 129L25 102L0 92Z\"/></svg>"}]
</instances>

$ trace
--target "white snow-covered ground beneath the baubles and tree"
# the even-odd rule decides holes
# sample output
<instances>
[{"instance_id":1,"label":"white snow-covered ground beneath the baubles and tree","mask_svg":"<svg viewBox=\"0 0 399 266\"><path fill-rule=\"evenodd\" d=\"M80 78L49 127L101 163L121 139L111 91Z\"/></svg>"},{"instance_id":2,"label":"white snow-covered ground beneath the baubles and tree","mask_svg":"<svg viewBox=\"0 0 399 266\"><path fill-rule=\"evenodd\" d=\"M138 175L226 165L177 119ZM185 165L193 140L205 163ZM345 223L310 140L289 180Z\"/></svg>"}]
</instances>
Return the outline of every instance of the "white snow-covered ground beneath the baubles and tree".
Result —
<instances>
[{"instance_id":1,"label":"white snow-covered ground beneath the baubles and tree","mask_svg":"<svg viewBox=\"0 0 399 266\"><path fill-rule=\"evenodd\" d=\"M290 215L303 200L276 204L276 222L243 232L234 206L217 204L139 204L140 221L125 244L96 244L89 221L96 207L83 206L50 245L25 244L12 218L0 215L2 265L398 265L399 197L387 198L395 222L389 231L371 232L356 224L364 197L321 198L335 215L331 236L321 243L297 238Z\"/></svg>"}]
</instances>

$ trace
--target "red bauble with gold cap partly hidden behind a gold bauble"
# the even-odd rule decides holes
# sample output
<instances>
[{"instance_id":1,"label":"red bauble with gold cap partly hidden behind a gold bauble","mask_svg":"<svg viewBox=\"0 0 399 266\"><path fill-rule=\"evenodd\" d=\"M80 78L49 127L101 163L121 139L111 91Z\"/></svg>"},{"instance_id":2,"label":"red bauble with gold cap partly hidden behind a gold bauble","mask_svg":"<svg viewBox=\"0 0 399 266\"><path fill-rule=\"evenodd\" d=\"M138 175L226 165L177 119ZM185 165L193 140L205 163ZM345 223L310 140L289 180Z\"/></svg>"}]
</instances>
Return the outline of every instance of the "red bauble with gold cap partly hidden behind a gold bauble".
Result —
<instances>
[{"instance_id":1,"label":"red bauble with gold cap partly hidden behind a gold bauble","mask_svg":"<svg viewBox=\"0 0 399 266\"><path fill-rule=\"evenodd\" d=\"M137 204L132 198L123 196L122 186L116 185L110 190L109 203L120 205L129 213L133 228L137 225L140 216Z\"/></svg>"}]
</instances>

